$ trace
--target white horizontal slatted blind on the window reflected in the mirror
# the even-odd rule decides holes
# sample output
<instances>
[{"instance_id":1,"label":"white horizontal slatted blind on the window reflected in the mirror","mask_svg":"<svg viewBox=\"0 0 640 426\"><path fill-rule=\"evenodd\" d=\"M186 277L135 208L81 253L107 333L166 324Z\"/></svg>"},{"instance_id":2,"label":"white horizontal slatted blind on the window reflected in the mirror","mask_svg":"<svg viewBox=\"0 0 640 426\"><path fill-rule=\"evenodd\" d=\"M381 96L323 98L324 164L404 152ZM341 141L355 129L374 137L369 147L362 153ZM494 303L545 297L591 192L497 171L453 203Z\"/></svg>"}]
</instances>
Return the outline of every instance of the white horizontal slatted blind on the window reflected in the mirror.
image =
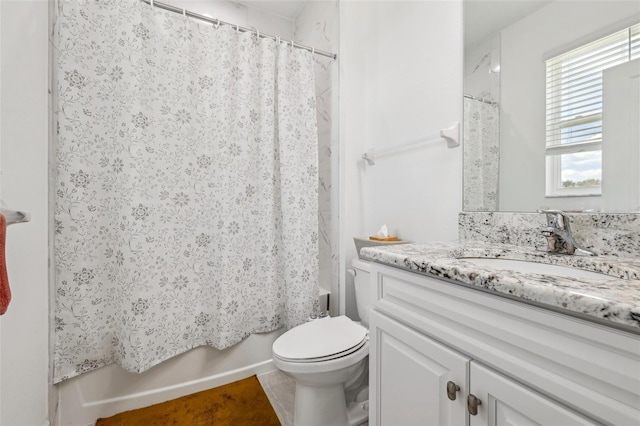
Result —
<instances>
[{"instance_id":1,"label":"white horizontal slatted blind on the window reflected in the mirror","mask_svg":"<svg viewBox=\"0 0 640 426\"><path fill-rule=\"evenodd\" d=\"M601 149L602 71L636 57L640 24L546 61L547 155Z\"/></svg>"}]
</instances>

